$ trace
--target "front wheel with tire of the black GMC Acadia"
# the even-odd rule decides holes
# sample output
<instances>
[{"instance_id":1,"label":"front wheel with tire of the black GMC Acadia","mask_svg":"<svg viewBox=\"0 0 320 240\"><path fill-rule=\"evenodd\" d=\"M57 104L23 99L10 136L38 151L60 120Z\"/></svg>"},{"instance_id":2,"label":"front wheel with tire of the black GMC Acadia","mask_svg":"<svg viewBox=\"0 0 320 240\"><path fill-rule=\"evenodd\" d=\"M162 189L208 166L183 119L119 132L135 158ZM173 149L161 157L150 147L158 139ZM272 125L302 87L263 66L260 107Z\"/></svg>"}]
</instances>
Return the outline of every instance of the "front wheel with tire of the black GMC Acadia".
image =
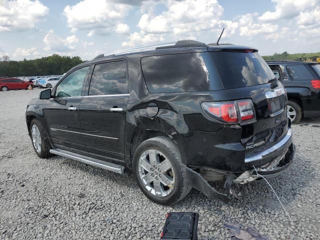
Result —
<instances>
[{"instance_id":1,"label":"front wheel with tire of the black GMC Acadia","mask_svg":"<svg viewBox=\"0 0 320 240\"><path fill-rule=\"evenodd\" d=\"M30 123L30 137L33 149L39 157L46 158L51 155L49 152L51 148L50 142L41 122L36 118L33 118Z\"/></svg>"}]
</instances>

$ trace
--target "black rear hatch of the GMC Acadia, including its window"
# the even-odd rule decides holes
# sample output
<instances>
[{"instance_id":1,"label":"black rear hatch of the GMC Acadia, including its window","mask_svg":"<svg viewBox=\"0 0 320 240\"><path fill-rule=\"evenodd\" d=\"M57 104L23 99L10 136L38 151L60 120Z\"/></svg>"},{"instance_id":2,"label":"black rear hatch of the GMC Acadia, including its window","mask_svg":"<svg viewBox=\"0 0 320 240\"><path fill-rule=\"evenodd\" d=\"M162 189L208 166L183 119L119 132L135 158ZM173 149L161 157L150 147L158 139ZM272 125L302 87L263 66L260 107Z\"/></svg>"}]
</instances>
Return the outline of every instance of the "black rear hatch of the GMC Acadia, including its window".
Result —
<instances>
[{"instance_id":1,"label":"black rear hatch of the GMC Acadia, including its window","mask_svg":"<svg viewBox=\"0 0 320 240\"><path fill-rule=\"evenodd\" d=\"M255 120L239 122L246 155L274 145L288 129L283 85L256 49L211 51L210 55L229 101L253 103Z\"/></svg>"}]
</instances>

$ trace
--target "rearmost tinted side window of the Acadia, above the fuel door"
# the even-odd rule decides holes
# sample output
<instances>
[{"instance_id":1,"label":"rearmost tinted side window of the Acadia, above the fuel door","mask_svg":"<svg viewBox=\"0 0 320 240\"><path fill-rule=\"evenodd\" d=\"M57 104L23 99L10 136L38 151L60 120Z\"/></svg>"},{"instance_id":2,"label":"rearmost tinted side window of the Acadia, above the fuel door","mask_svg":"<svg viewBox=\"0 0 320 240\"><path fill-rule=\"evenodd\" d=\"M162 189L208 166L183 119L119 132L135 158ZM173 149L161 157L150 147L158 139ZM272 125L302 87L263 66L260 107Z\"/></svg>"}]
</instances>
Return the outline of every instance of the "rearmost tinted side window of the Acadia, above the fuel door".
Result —
<instances>
[{"instance_id":1,"label":"rearmost tinted side window of the Acadia, above the fuel door","mask_svg":"<svg viewBox=\"0 0 320 240\"><path fill-rule=\"evenodd\" d=\"M141 58L141 66L147 89L152 93L207 91L210 78L216 76L207 52L146 56ZM212 79L214 82L220 84L216 78Z\"/></svg>"}]
</instances>

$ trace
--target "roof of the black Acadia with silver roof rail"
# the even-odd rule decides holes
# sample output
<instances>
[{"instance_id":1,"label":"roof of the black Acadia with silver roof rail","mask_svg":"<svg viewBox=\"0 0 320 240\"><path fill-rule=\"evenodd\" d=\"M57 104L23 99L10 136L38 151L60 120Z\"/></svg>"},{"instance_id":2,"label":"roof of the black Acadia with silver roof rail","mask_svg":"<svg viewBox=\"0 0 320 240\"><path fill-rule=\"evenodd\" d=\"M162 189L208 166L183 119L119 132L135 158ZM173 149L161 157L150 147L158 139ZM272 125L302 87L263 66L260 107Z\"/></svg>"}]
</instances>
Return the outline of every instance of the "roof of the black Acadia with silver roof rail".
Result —
<instances>
[{"instance_id":1,"label":"roof of the black Acadia with silver roof rail","mask_svg":"<svg viewBox=\"0 0 320 240\"><path fill-rule=\"evenodd\" d=\"M163 50L182 50L182 49L186 49L190 51L190 49L201 49L201 48L205 49L206 51L223 51L223 50L240 50L240 49L250 49L252 51L257 51L257 49L253 47L233 45L230 43L205 44L203 42L194 41L194 40L179 40L176 42L167 42L167 43L161 43L156 45L141 46L141 47L115 51L107 55L99 54L96 57L94 57L92 60L100 59L104 57L117 56L117 55L137 54L142 52L147 53L147 52L158 52L161 50L163 51Z\"/></svg>"}]
</instances>

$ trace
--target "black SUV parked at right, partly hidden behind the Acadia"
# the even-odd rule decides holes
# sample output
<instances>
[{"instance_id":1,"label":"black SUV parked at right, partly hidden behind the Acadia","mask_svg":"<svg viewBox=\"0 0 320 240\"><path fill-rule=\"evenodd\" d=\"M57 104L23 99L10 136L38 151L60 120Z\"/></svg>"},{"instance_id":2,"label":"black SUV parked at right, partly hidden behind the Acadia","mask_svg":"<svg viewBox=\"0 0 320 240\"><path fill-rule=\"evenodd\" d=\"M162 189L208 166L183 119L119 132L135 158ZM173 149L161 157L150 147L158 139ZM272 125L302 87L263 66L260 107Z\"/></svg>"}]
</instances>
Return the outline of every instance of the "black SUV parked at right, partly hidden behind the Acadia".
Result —
<instances>
[{"instance_id":1,"label":"black SUV parked at right, partly hidden behind the Acadia","mask_svg":"<svg viewBox=\"0 0 320 240\"><path fill-rule=\"evenodd\" d=\"M320 116L320 65L294 60L266 62L285 86L291 122L299 123L302 116Z\"/></svg>"}]
</instances>

